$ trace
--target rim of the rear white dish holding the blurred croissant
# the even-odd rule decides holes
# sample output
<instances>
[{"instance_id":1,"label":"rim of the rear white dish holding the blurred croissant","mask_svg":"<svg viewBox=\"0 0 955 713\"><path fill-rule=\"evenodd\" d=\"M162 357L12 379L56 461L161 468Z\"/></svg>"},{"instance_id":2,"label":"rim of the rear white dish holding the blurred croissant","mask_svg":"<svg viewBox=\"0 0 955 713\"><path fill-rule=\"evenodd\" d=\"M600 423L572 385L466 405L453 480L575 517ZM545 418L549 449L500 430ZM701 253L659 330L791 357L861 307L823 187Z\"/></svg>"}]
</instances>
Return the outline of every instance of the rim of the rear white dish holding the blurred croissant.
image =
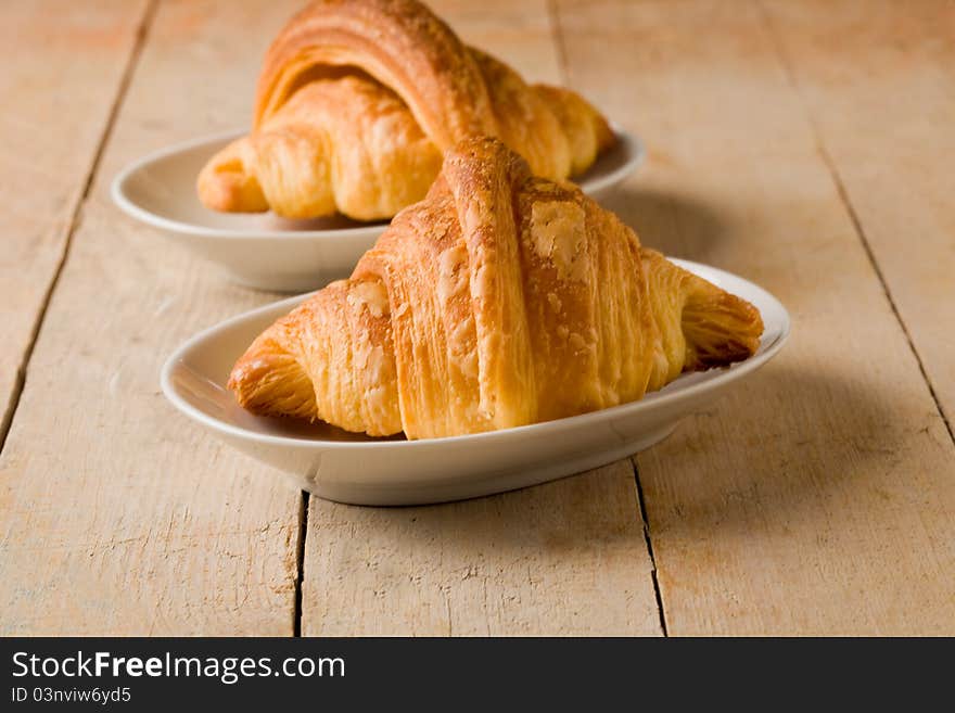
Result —
<instances>
[{"instance_id":1,"label":"rim of the rear white dish holding the blurred croissant","mask_svg":"<svg viewBox=\"0 0 955 713\"><path fill-rule=\"evenodd\" d=\"M635 173L647 158L647 149L644 141L636 133L625 131L620 125L611 122L610 127L616 136L617 140L629 147L627 161L604 176L600 176L587 187L588 194L598 193L611 186L623 181L624 178ZM113 178L110 183L110 198L113 203L123 213L140 222L167 230L169 232L182 235L193 235L199 238L207 238L213 240L284 240L284 241L313 241L316 239L345 239L345 238L367 238L369 233L383 232L387 228L390 220L380 220L370 222L365 226L356 226L353 228L332 228L329 230L276 230L276 229L247 229L247 228L209 228L193 222L182 222L166 218L152 211L140 206L133 202L127 194L125 187L133 174L141 170L143 166L155 163L171 156L173 154L182 153L206 143L218 141L228 141L238 139L247 133L247 129L231 129L228 131L219 131L206 136L196 137L188 141L175 143L164 149L158 149L151 153L130 162ZM585 171L586 173L586 171ZM583 190L583 188L582 188Z\"/></svg>"}]
</instances>

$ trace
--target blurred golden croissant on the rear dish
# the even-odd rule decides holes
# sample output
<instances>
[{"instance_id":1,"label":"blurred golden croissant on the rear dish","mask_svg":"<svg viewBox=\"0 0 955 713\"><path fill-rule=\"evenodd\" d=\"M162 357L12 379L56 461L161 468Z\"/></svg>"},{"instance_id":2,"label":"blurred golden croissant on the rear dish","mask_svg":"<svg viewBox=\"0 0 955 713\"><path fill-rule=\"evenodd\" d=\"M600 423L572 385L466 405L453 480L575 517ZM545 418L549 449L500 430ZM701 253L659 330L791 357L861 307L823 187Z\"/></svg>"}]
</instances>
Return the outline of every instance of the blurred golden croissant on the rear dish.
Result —
<instances>
[{"instance_id":1,"label":"blurred golden croissant on the rear dish","mask_svg":"<svg viewBox=\"0 0 955 713\"><path fill-rule=\"evenodd\" d=\"M209 160L199 195L225 212L390 218L469 136L499 137L552 179L614 141L584 99L526 85L417 0L320 0L272 43L253 131Z\"/></svg>"}]
</instances>

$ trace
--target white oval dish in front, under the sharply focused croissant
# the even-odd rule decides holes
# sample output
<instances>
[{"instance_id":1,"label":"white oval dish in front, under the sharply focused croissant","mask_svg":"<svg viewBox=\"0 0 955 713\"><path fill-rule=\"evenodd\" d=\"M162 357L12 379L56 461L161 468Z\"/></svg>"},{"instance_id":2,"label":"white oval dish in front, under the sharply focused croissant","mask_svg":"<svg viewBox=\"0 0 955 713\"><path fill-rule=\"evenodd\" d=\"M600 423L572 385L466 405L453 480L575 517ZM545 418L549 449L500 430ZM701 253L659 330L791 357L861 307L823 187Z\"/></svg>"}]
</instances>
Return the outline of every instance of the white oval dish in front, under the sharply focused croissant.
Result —
<instances>
[{"instance_id":1,"label":"white oval dish in front, under the sharply focused croissant","mask_svg":"<svg viewBox=\"0 0 955 713\"><path fill-rule=\"evenodd\" d=\"M674 260L748 300L763 317L760 351L728 369L686 374L644 399L572 418L448 438L371 438L321 423L263 418L226 389L252 340L308 295L228 319L173 354L162 386L180 411L319 497L356 505L458 500L597 468L665 438L690 413L768 361L789 336L786 308L762 288L704 265Z\"/></svg>"}]
</instances>

